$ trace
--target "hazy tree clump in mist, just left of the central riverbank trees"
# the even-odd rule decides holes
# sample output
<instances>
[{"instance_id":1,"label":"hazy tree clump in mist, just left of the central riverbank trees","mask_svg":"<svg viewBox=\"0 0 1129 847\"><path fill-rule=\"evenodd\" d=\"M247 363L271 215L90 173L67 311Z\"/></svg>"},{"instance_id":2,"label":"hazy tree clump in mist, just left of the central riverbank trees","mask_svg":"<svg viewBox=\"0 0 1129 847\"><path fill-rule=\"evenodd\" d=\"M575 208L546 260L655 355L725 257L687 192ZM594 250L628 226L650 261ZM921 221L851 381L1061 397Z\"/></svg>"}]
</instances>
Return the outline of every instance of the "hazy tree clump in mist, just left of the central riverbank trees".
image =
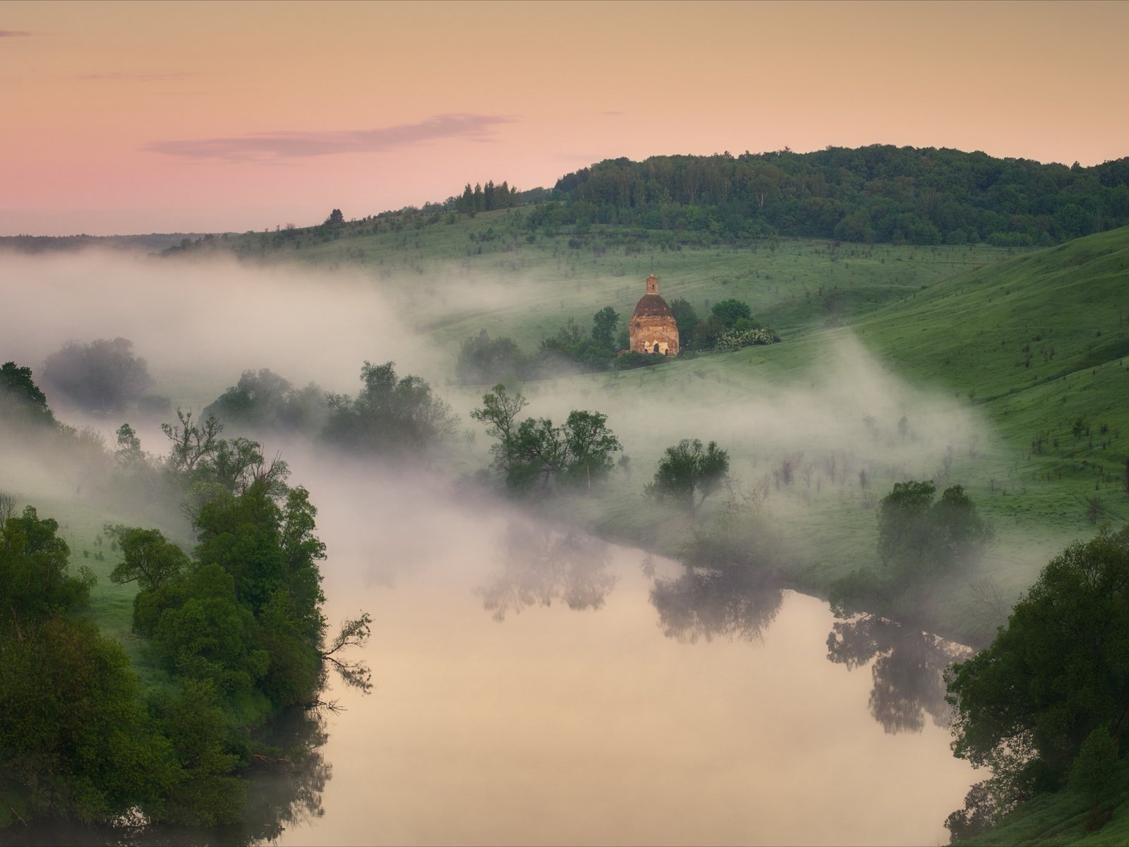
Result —
<instances>
[{"instance_id":1,"label":"hazy tree clump in mist, just left of the central riverbank trees","mask_svg":"<svg viewBox=\"0 0 1129 847\"><path fill-rule=\"evenodd\" d=\"M418 453L438 445L455 430L450 407L419 376L397 377L395 363L360 369L364 384L356 400L330 394L326 439L347 449Z\"/></svg>"}]
</instances>

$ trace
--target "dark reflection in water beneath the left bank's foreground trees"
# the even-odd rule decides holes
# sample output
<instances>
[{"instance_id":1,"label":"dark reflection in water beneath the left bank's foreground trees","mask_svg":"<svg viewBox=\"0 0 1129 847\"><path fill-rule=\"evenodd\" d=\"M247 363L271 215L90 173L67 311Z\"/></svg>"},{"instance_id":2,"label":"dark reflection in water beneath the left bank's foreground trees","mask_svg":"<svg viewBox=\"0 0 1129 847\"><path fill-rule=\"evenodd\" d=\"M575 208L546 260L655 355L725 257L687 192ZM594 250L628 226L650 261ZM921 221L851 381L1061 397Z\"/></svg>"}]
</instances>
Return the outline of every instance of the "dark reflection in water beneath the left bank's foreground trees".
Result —
<instances>
[{"instance_id":1,"label":"dark reflection in water beneath the left bank's foreground trees","mask_svg":"<svg viewBox=\"0 0 1129 847\"><path fill-rule=\"evenodd\" d=\"M256 756L246 776L245 819L225 827L123 826L82 827L36 822L27 828L0 830L0 845L252 845L275 841L287 830L322 818L322 793L332 776L323 748L329 735L320 710L292 709L271 725L262 739L273 754ZM130 826L132 823L132 826Z\"/></svg>"}]
</instances>

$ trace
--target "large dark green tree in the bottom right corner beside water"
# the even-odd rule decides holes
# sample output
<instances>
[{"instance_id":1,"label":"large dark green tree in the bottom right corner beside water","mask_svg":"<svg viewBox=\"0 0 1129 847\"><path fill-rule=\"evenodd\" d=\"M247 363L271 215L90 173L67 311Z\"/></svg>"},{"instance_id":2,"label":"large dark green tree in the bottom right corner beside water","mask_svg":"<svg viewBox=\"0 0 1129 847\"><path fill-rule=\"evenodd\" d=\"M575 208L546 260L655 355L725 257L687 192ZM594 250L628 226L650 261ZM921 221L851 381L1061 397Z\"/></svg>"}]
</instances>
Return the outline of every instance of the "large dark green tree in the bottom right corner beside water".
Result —
<instances>
[{"instance_id":1,"label":"large dark green tree in the bottom right corner beside water","mask_svg":"<svg viewBox=\"0 0 1129 847\"><path fill-rule=\"evenodd\" d=\"M1127 655L1129 526L1054 557L991 645L953 665L953 752L991 767L1001 797L1056 789L1092 733L1121 740Z\"/></svg>"}]
</instances>

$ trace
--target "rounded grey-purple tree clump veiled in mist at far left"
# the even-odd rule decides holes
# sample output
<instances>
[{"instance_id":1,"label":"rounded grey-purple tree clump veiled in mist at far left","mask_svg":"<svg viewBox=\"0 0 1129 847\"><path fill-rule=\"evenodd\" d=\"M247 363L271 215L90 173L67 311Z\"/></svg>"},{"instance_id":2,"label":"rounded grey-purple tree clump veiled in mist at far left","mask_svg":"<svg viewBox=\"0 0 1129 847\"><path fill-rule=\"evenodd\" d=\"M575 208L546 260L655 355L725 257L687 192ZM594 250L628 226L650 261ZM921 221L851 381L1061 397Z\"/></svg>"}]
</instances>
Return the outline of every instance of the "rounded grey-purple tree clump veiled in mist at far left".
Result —
<instances>
[{"instance_id":1,"label":"rounded grey-purple tree clump veiled in mist at far left","mask_svg":"<svg viewBox=\"0 0 1129 847\"><path fill-rule=\"evenodd\" d=\"M68 341L43 364L43 383L93 412L121 411L152 385L146 360L124 338Z\"/></svg>"}]
</instances>

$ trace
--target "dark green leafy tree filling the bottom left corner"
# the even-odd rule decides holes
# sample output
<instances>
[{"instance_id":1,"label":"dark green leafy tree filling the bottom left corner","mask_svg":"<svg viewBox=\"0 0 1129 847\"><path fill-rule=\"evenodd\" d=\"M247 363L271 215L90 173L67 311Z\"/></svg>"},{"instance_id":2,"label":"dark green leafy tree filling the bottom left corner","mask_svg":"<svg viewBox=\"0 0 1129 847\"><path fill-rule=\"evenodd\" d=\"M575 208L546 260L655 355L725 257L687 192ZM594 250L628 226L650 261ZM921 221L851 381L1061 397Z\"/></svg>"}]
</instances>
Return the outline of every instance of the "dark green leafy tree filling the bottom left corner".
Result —
<instances>
[{"instance_id":1,"label":"dark green leafy tree filling the bottom left corner","mask_svg":"<svg viewBox=\"0 0 1129 847\"><path fill-rule=\"evenodd\" d=\"M59 524L28 506L0 527L0 827L104 820L151 796L157 750L122 647L73 617Z\"/></svg>"}]
</instances>

